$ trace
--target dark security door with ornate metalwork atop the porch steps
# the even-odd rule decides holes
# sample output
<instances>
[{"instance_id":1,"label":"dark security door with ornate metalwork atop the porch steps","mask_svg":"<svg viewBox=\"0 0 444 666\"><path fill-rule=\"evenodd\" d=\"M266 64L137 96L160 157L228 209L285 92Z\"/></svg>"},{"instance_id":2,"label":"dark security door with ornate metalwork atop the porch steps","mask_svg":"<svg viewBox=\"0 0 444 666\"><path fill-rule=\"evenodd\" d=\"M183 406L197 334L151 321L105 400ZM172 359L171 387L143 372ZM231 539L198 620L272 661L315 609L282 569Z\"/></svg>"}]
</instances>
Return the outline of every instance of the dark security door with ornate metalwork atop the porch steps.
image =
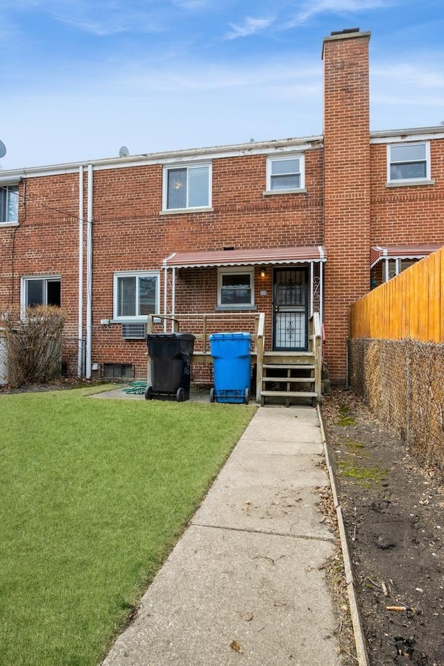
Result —
<instances>
[{"instance_id":1,"label":"dark security door with ornate metalwork atop the porch steps","mask_svg":"<svg viewBox=\"0 0 444 666\"><path fill-rule=\"evenodd\" d=\"M275 268L273 350L307 350L307 268Z\"/></svg>"}]
</instances>

